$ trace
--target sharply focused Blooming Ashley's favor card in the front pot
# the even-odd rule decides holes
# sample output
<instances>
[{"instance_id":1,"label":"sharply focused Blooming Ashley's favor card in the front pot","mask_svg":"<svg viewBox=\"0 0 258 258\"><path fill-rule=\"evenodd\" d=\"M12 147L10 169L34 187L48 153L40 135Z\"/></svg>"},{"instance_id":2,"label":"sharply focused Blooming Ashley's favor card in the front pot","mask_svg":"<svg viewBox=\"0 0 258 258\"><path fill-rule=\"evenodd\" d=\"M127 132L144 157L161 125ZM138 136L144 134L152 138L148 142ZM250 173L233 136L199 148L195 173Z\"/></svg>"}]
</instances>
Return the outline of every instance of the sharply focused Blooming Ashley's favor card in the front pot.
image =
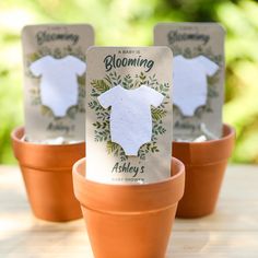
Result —
<instances>
[{"instance_id":1,"label":"sharply focused Blooming Ashley's favor card in the front pot","mask_svg":"<svg viewBox=\"0 0 258 258\"><path fill-rule=\"evenodd\" d=\"M91 47L86 56L86 177L107 184L168 178L171 49Z\"/></svg>"}]
</instances>

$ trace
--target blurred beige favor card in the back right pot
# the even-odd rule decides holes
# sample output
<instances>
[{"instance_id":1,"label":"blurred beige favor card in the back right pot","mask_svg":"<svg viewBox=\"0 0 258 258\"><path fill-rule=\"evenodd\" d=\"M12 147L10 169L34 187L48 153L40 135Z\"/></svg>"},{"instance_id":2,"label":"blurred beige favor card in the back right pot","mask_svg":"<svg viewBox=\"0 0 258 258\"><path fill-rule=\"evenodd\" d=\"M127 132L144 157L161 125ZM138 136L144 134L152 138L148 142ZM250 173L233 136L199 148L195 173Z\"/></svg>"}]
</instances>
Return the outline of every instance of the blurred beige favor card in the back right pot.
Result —
<instances>
[{"instance_id":1,"label":"blurred beige favor card in the back right pot","mask_svg":"<svg viewBox=\"0 0 258 258\"><path fill-rule=\"evenodd\" d=\"M163 23L154 44L168 46L173 59L174 140L222 136L224 30L215 23Z\"/></svg>"}]
</instances>

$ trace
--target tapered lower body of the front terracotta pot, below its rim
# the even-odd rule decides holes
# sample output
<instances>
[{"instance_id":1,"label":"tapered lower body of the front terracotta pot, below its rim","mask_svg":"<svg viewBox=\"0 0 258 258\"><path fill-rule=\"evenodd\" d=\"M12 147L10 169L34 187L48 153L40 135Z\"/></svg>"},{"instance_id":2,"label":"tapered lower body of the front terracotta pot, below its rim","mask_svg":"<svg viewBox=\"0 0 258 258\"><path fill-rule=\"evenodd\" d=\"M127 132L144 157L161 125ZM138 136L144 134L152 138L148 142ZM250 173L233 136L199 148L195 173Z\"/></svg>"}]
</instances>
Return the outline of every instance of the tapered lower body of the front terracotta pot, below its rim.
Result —
<instances>
[{"instance_id":1,"label":"tapered lower body of the front terracotta pot, below its rim","mask_svg":"<svg viewBox=\"0 0 258 258\"><path fill-rule=\"evenodd\" d=\"M95 258L165 257L176 206L149 214L82 211Z\"/></svg>"}]
</instances>

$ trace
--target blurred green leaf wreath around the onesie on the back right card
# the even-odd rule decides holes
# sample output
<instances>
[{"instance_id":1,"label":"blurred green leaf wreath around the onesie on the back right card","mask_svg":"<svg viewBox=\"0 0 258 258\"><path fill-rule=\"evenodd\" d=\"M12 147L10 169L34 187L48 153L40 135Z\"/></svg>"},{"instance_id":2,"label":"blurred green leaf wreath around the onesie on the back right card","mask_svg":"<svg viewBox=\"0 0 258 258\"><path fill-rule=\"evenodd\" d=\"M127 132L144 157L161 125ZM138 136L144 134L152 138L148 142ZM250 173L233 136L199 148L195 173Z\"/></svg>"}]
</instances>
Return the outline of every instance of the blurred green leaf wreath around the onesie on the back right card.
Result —
<instances>
[{"instance_id":1,"label":"blurred green leaf wreath around the onesie on the back right card","mask_svg":"<svg viewBox=\"0 0 258 258\"><path fill-rule=\"evenodd\" d=\"M200 55L209 58L213 62L215 62L220 68L222 68L223 64L223 56L222 55L214 55L211 47L202 47L197 46L194 48L186 47L181 48L179 46L173 46L173 54L174 56L181 55L185 58L195 58ZM214 86L220 80L220 70L213 75L208 78L208 97L207 97L207 104L204 106L201 106L197 108L195 112L195 116L197 118L201 118L203 113L213 113L213 109L211 107L211 101L212 98L219 97L219 93L216 87ZM177 113L177 115L180 115L183 118L185 117L178 107L174 106L174 112Z\"/></svg>"}]
</instances>

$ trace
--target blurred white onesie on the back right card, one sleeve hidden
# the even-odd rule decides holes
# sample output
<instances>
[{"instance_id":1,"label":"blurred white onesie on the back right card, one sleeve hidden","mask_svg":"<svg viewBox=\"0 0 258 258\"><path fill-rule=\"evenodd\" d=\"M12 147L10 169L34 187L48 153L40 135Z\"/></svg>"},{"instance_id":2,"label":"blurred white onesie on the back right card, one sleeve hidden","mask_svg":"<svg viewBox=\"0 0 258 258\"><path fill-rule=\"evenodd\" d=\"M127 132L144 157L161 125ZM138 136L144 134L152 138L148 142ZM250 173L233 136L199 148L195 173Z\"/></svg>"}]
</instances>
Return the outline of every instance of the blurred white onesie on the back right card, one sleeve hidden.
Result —
<instances>
[{"instance_id":1,"label":"blurred white onesie on the back right card, one sleeve hidden","mask_svg":"<svg viewBox=\"0 0 258 258\"><path fill-rule=\"evenodd\" d=\"M187 59L181 55L174 58L173 104L184 116L194 116L195 110L206 105L207 77L212 77L219 66L204 56Z\"/></svg>"}]
</instances>

